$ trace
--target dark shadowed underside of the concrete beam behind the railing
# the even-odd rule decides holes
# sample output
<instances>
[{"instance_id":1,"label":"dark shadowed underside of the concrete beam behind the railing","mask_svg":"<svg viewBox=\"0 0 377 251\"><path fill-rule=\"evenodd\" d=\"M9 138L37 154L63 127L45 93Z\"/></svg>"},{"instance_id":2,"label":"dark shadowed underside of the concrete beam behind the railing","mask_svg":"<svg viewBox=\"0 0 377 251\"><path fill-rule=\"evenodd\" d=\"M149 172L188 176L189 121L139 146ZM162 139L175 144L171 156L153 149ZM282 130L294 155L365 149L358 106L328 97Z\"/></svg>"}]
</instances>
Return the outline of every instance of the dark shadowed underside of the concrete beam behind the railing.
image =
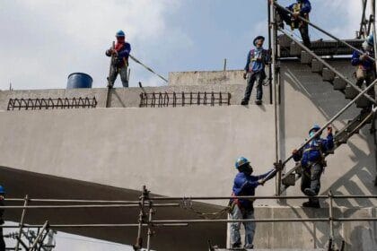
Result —
<instances>
[{"instance_id":1,"label":"dark shadowed underside of the concrete beam behind the railing","mask_svg":"<svg viewBox=\"0 0 377 251\"><path fill-rule=\"evenodd\" d=\"M136 190L102 186L74 179L41 175L5 167L0 167L0 177L0 182L5 187L7 197L9 198L23 198L25 195L29 195L31 198L51 199L138 200L140 195L140 192ZM177 202L166 201L161 203ZM6 204L11 205L14 203ZM193 203L193 206L200 212L216 212L222 209L219 206L206 203ZM5 220L17 222L20 220L21 213L21 210L8 209L5 212ZM48 220L50 224L137 223L138 215L138 208L31 209L26 213L25 222L28 224L42 224ZM153 219L183 220L200 218L194 212L181 207L159 207ZM127 245L135 244L137 235L137 228L60 230ZM226 242L226 223L192 224L188 227L166 227L155 230L156 235L152 239L152 247L158 250L206 250L208 239L222 246L225 246ZM144 237L146 241L146 235Z\"/></svg>"}]
</instances>

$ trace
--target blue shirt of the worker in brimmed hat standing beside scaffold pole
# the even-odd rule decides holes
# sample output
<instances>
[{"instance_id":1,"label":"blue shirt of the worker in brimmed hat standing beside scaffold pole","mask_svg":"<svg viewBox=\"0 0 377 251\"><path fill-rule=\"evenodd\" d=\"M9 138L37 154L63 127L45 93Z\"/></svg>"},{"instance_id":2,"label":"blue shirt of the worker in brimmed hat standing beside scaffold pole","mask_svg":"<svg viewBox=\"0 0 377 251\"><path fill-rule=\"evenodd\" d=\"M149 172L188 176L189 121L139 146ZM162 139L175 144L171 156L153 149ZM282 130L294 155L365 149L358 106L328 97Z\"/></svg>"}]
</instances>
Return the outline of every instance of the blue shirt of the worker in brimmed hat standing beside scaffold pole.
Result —
<instances>
[{"instance_id":1,"label":"blue shirt of the worker in brimmed hat standing beside scaffold pole","mask_svg":"<svg viewBox=\"0 0 377 251\"><path fill-rule=\"evenodd\" d=\"M268 51L264 48L251 49L246 58L245 71L249 73L259 73L265 69L269 62Z\"/></svg>"}]
</instances>

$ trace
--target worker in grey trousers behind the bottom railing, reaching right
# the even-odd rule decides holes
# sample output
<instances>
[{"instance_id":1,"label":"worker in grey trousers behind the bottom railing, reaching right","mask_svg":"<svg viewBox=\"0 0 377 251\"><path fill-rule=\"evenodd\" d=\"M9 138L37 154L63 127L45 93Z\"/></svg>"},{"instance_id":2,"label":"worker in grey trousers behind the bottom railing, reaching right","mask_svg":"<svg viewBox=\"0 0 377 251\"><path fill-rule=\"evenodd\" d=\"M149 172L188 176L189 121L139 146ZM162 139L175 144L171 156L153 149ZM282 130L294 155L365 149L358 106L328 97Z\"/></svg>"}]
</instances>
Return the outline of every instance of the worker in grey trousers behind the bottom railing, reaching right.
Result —
<instances>
[{"instance_id":1,"label":"worker in grey trousers behind the bottom railing, reaching right","mask_svg":"<svg viewBox=\"0 0 377 251\"><path fill-rule=\"evenodd\" d=\"M264 178L267 177L274 169L259 176L252 176L253 169L250 161L244 157L235 162L235 168L239 173L234 178L232 187L232 196L253 196L255 188L264 185ZM252 220L254 219L253 200L232 198L229 202L230 216L232 220ZM255 234L255 222L243 222L245 227L245 248L253 248L253 239ZM231 244L232 248L241 247L241 222L232 222L231 224Z\"/></svg>"}]
</instances>

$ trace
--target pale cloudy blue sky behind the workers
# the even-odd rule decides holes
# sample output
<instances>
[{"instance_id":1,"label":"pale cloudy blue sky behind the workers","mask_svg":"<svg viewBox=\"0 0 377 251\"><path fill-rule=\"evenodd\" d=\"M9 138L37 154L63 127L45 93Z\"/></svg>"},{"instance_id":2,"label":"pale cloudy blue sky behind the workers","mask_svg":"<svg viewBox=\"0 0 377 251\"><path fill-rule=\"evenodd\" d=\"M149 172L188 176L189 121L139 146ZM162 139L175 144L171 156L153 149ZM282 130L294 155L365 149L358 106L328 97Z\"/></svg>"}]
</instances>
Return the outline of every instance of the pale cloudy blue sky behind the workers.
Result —
<instances>
[{"instance_id":1,"label":"pale cloudy blue sky behind the workers","mask_svg":"<svg viewBox=\"0 0 377 251\"><path fill-rule=\"evenodd\" d=\"M355 37L361 0L311 2L311 21ZM241 69L252 39L267 35L266 22L267 0L1 0L0 90L10 82L15 90L66 88L75 72L92 75L93 87L105 86L104 51L117 30L126 32L134 56L165 76L218 70L224 58ZM130 86L164 84L139 65L130 68Z\"/></svg>"}]
</instances>

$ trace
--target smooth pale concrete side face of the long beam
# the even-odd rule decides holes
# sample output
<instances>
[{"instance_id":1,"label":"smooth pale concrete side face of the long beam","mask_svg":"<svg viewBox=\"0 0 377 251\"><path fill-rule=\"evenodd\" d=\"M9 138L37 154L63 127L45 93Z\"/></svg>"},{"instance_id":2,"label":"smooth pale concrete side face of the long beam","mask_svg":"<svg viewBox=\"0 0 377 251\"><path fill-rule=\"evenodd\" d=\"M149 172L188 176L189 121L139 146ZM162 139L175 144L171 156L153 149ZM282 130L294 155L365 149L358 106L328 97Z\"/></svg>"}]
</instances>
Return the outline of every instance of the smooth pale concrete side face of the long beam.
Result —
<instances>
[{"instance_id":1,"label":"smooth pale concrete side face of the long beam","mask_svg":"<svg viewBox=\"0 0 377 251\"><path fill-rule=\"evenodd\" d=\"M4 111L0 119L4 167L145 184L160 195L230 195L237 156L264 172L275 155L272 106Z\"/></svg>"}]
</instances>

